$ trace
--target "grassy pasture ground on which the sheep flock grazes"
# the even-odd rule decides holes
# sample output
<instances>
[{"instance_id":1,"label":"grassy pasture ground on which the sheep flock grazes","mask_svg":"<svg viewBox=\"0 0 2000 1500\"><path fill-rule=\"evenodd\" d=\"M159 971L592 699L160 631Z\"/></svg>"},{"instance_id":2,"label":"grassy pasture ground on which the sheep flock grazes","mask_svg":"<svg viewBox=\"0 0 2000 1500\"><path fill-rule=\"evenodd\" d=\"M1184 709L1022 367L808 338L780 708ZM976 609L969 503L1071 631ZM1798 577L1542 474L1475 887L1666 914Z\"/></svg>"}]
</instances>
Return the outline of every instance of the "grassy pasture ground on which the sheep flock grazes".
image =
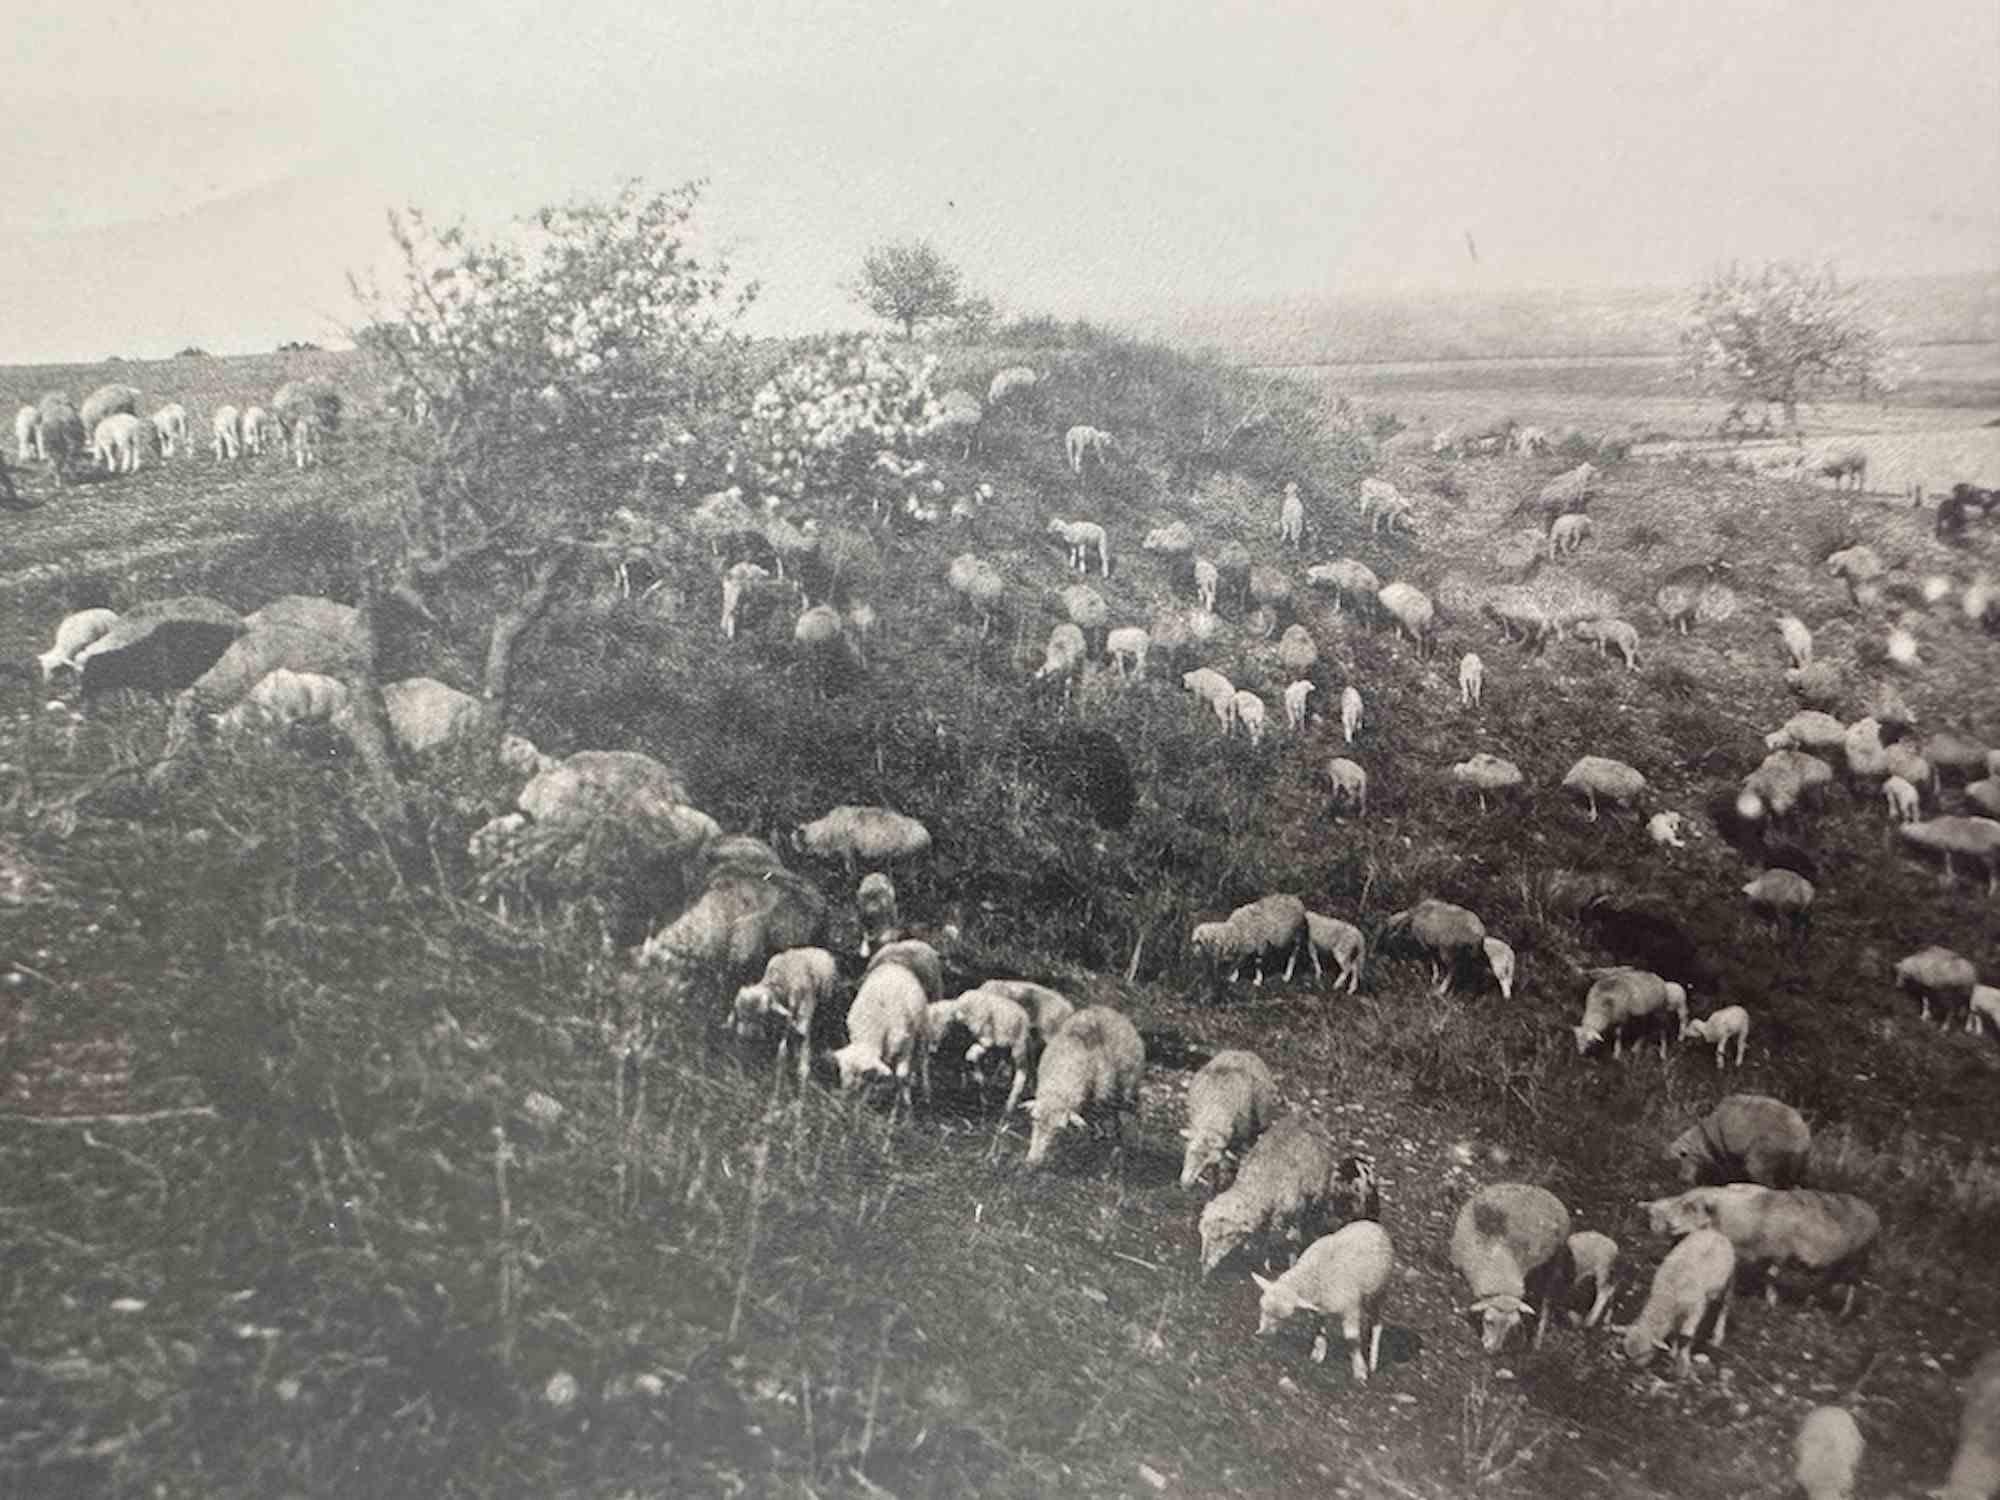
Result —
<instances>
[{"instance_id":1,"label":"grassy pasture ground on which the sheep flock grazes","mask_svg":"<svg viewBox=\"0 0 2000 1500\"><path fill-rule=\"evenodd\" d=\"M1742 910L1758 866L1706 810L1798 708L1776 614L1812 626L1844 718L1890 672L1886 612L1850 606L1822 568L1858 540L1892 564L1888 610L1922 640L1922 668L1898 678L1922 732L2000 740L2000 642L1950 600L1914 598L1928 574L2000 568L2000 526L1946 548L1928 514L1876 498L1684 458L1610 462L1596 536L1558 568L1640 626L1642 670L1578 642L1530 652L1464 600L1500 576L1496 538L1572 460L1392 460L1420 526L1370 536L1352 510L1362 438L1330 432L1306 466L1266 434L1188 476L1174 456L1202 416L1242 410L1258 382L1068 332L948 354L948 374L980 388L1020 360L1048 378L990 418L976 452L938 454L952 494L996 490L970 522L878 528L880 624L842 690L810 690L784 616L724 648L706 548L674 550L644 600L620 598L608 570L582 578L522 660L516 726L544 750L660 756L836 912L850 876L792 856L788 830L838 802L922 816L936 846L896 880L918 922L960 930L948 990L1018 974L1140 1024L1150 1068L1122 1148L1066 1140L1036 1174L1024 1126L972 1088L944 1086L914 1118L838 1096L824 1070L798 1090L722 1040L716 996L648 996L634 1022L624 960L590 912L502 922L470 898L466 836L490 808L456 788L412 782L412 864L324 744L208 750L162 786L142 774L162 704L46 706L30 658L64 610L354 598L352 518L404 476L342 356L0 372L16 398L132 380L200 426L220 396L268 392L300 360L354 396L324 468L200 454L62 494L28 472L42 504L6 520L0 658L20 670L0 684L0 1074L14 1072L0 1494L1778 1496L1798 1418L1824 1400L1868 1434L1864 1492L1942 1480L1956 1376L2000 1328L2000 1048L1922 1028L1888 972L1946 942L1990 978L2000 908L1906 858L1880 798L1836 788L1786 834L1818 872L1794 944ZM1650 374L1558 374L1328 384L1404 420L1506 410L1694 434ZM1124 440L1084 478L1060 452L1076 410ZM1296 558L1276 542L1284 474L1308 500ZM1186 520L1204 550L1242 540L1300 582L1342 554L1408 578L1444 606L1442 638L1420 656L1298 590L1316 704L1344 682L1366 694L1352 750L1324 714L1282 728L1272 642L1230 606L1204 660L1270 704L1278 728L1258 750L1224 740L1160 664L1130 686L1096 670L1064 710L1028 678L1072 580L1046 522L1080 514L1114 536L1110 578L1092 578L1112 624L1184 602L1138 538ZM964 550L1008 580L986 638L944 588ZM1742 608L1666 632L1658 580L1722 554ZM446 616L384 642L382 676L474 684L476 626ZM1456 688L1470 648L1488 674L1478 712ZM1052 766L1078 726L1130 762L1128 826L1098 826ZM1516 760L1524 794L1484 814L1454 796L1446 768L1474 750ZM1586 752L1636 764L1648 808L1688 814L1688 848L1656 848L1644 814L1588 822L1558 788ZM1368 766L1366 818L1328 810L1334 754ZM1576 1056L1584 968L1616 956L1578 920L1590 888L1698 934L1714 982L1694 1006L1756 1016L1740 1074L1718 1076L1704 1048ZM1370 936L1422 896L1462 902L1516 946L1520 984L1512 1000L1434 996L1422 966L1372 952L1354 998L1310 982L1222 992L1186 932L1268 890ZM850 918L828 946L856 968ZM634 1026L658 1028L638 1058ZM1402 1272L1368 1384L1338 1354L1314 1366L1300 1330L1254 1338L1244 1266L1198 1274L1180 1092L1224 1046L1256 1048L1294 1106L1380 1166ZM86 1076L104 1056L118 1066L98 1074L128 1058L130 1076ZM1576 1228L1614 1234L1622 1324L1664 1250L1636 1208L1676 1186L1660 1148L1736 1088L1804 1110L1816 1186L1880 1208L1856 1316L1834 1318L1810 1284L1772 1308L1744 1298L1728 1344L1684 1382L1562 1324L1542 1350L1482 1356L1448 1264L1466 1194L1542 1182ZM108 1090L100 1116L144 1118L36 1118L92 1090Z\"/></svg>"}]
</instances>

